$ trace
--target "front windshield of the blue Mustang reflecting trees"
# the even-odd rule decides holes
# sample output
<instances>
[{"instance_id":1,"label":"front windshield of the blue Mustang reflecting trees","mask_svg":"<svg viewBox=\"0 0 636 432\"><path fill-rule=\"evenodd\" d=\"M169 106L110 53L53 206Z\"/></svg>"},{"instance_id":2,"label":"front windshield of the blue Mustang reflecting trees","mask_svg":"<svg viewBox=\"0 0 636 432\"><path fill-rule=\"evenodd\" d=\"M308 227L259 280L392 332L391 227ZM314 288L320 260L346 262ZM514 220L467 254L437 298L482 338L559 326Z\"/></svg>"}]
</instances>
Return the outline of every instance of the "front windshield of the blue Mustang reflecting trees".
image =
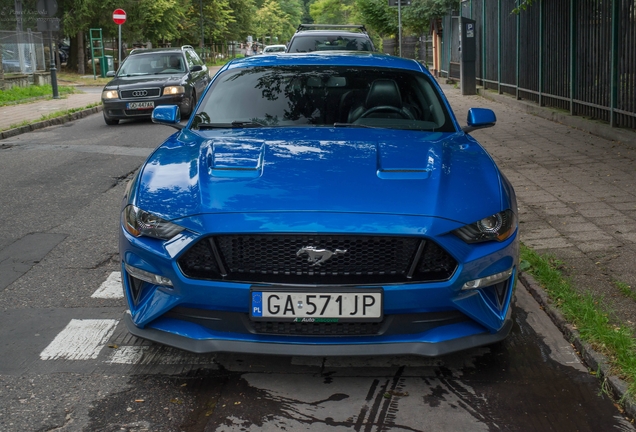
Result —
<instances>
[{"instance_id":1,"label":"front windshield of the blue Mustang reflecting trees","mask_svg":"<svg viewBox=\"0 0 636 432\"><path fill-rule=\"evenodd\" d=\"M455 131L426 75L333 66L226 71L199 105L192 128L243 125Z\"/></svg>"}]
</instances>

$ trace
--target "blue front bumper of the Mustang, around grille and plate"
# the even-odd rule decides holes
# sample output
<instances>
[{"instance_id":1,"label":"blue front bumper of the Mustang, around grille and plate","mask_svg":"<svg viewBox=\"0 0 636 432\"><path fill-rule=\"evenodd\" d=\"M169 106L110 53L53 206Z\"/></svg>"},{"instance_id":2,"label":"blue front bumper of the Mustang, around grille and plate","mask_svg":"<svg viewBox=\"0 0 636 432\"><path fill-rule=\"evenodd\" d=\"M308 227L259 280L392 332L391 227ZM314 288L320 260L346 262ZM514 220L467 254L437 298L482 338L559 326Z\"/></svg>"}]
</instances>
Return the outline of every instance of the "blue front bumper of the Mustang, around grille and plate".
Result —
<instances>
[{"instance_id":1,"label":"blue front bumper of the Mustang, around grille and plate","mask_svg":"<svg viewBox=\"0 0 636 432\"><path fill-rule=\"evenodd\" d=\"M378 215L373 217L376 222L382 219ZM344 216L340 220L342 218ZM217 224L222 225L218 221ZM414 229L422 225L425 224L415 224ZM442 231L448 229L444 227ZM144 283L135 288L131 286L134 278L122 264L122 280L130 309L125 321L133 335L193 352L439 356L488 345L508 335L519 253L517 236L515 233L505 242L481 245L468 245L454 235L433 236L447 251L453 251L459 263L450 279L375 284L373 287L384 293L383 311L387 318L387 325L375 333L306 335L273 334L250 325L250 283L185 277L177 260L196 243L198 234L184 232L169 242L162 242L134 238L122 229L120 255L124 263L166 277L173 283L173 286ZM510 269L511 276L498 283L497 289L492 289L495 285L461 289L469 280ZM374 284L365 284L368 288L372 288L371 285ZM310 286L304 288L311 289ZM190 312L184 312L186 309ZM430 316L424 316L454 312L461 313L463 319L431 320ZM418 314L421 316L414 316ZM430 324L432 321L435 323Z\"/></svg>"}]
</instances>

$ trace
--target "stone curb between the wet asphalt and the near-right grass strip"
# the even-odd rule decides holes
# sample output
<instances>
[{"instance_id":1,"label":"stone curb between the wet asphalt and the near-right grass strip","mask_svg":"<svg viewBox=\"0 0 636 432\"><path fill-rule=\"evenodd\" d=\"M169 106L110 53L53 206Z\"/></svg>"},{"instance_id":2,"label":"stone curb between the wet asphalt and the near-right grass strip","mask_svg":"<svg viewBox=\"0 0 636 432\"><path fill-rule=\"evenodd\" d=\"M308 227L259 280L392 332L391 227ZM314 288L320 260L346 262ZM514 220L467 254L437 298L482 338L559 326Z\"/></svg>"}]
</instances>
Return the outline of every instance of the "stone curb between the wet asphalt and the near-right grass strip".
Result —
<instances>
[{"instance_id":1,"label":"stone curb between the wet asphalt and the near-right grass strip","mask_svg":"<svg viewBox=\"0 0 636 432\"><path fill-rule=\"evenodd\" d=\"M632 419L636 418L636 400L627 393L627 383L613 375L607 357L594 351L588 343L581 340L578 330L568 323L561 312L552 305L548 294L532 275L520 273L519 279L554 324L563 332L565 338L574 345L588 369L597 372L599 378L603 380L603 387L612 392L612 395L619 401L627 415Z\"/></svg>"}]
</instances>

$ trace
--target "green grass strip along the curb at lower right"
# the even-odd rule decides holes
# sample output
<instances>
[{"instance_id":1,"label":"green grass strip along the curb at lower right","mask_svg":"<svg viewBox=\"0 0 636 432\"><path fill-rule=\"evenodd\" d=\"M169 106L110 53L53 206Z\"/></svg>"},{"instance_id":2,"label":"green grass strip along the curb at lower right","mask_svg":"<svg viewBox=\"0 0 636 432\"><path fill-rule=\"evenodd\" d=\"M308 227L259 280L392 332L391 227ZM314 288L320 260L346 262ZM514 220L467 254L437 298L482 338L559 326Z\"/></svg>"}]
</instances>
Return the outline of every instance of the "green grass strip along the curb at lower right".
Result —
<instances>
[{"instance_id":1,"label":"green grass strip along the curb at lower right","mask_svg":"<svg viewBox=\"0 0 636 432\"><path fill-rule=\"evenodd\" d=\"M521 245L520 269L530 273L546 290L565 319L573 324L596 351L604 354L612 372L629 385L636 395L636 339L632 329L610 320L611 310L602 299L591 294L579 294L560 269L562 262L550 255L539 255Z\"/></svg>"}]
</instances>

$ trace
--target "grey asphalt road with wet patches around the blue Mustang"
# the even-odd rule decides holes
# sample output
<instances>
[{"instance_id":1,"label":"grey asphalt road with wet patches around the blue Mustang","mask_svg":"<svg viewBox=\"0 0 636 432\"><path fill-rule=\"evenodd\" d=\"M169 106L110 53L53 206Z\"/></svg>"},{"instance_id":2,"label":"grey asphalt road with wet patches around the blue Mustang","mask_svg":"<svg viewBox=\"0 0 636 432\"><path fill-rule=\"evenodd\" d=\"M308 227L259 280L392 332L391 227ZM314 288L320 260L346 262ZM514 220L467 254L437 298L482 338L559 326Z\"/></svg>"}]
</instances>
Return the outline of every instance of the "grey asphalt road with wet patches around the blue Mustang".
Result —
<instances>
[{"instance_id":1,"label":"grey asphalt road with wet patches around the blue Mustang","mask_svg":"<svg viewBox=\"0 0 636 432\"><path fill-rule=\"evenodd\" d=\"M0 141L0 431L634 430L521 285L504 343L435 359L193 355L130 336L120 200L173 132L93 115Z\"/></svg>"}]
</instances>

